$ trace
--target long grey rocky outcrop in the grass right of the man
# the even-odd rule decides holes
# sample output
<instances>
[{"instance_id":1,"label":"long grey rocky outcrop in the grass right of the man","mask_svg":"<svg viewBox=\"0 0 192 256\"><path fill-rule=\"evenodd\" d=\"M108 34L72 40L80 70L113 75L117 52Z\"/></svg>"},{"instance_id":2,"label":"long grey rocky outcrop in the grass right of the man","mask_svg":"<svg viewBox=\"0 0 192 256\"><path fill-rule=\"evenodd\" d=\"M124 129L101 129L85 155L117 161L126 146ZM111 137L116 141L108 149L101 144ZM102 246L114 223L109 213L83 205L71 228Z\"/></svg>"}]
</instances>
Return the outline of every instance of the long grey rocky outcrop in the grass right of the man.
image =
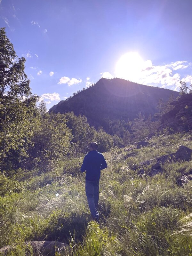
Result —
<instances>
[{"instance_id":1,"label":"long grey rocky outcrop in the grass right of the man","mask_svg":"<svg viewBox=\"0 0 192 256\"><path fill-rule=\"evenodd\" d=\"M167 162L177 162L177 161L189 161L192 155L192 149L186 146L180 146L176 153L156 157L138 165L133 164L132 170L138 170L138 173L144 173L146 166L151 164L151 171L149 171L149 176L153 176L157 173L162 173L162 166Z\"/></svg>"}]
</instances>

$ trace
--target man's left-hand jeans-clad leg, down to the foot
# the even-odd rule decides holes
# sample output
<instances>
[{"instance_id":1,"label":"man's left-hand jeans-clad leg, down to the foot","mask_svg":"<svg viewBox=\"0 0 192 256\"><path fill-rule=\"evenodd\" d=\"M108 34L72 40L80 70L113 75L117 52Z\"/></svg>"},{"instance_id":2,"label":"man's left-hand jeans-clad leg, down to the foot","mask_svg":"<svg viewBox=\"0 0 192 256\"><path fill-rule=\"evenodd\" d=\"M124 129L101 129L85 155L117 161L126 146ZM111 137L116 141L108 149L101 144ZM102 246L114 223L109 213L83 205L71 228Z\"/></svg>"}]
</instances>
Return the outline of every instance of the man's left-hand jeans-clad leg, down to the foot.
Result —
<instances>
[{"instance_id":1,"label":"man's left-hand jeans-clad leg, down to the foot","mask_svg":"<svg viewBox=\"0 0 192 256\"><path fill-rule=\"evenodd\" d=\"M89 204L89 209L94 220L99 220L99 212L96 210L95 203L94 203L94 183L89 180L85 180L85 192L87 196L87 201Z\"/></svg>"}]
</instances>

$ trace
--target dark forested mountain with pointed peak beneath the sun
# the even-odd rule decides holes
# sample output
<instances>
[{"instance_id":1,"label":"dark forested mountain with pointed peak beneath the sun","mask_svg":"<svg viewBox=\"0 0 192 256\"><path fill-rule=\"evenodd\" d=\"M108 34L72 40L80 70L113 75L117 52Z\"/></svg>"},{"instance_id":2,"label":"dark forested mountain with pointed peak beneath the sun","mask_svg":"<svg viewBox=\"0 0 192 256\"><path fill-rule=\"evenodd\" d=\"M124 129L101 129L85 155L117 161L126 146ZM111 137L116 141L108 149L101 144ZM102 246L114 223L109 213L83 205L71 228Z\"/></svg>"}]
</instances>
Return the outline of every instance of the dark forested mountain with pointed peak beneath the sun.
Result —
<instances>
[{"instance_id":1,"label":"dark forested mountain with pointed peak beneath the sun","mask_svg":"<svg viewBox=\"0 0 192 256\"><path fill-rule=\"evenodd\" d=\"M49 112L85 115L96 128L104 128L108 120L133 120L141 112L145 117L157 112L159 99L166 102L173 93L179 92L154 86L133 83L120 78L101 78L94 86L83 90L68 100L62 100L50 108Z\"/></svg>"}]
</instances>

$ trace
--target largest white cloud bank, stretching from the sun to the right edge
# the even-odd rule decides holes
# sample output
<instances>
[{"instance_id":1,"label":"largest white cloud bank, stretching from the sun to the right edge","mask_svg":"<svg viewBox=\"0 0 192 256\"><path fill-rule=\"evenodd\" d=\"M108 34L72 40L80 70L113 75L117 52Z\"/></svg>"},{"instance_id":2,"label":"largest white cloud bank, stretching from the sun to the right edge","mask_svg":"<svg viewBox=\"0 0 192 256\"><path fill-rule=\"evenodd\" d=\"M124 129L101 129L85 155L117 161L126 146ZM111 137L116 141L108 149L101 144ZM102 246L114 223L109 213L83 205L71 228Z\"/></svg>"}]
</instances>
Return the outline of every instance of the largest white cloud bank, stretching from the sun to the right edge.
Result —
<instances>
[{"instance_id":1,"label":"largest white cloud bank, stretching from the sun to the right edge","mask_svg":"<svg viewBox=\"0 0 192 256\"><path fill-rule=\"evenodd\" d=\"M144 61L141 59L138 63L134 63L134 61L132 63L132 61L127 60L127 63L120 63L121 69L119 70L123 70L123 72L115 70L115 76L140 84L157 85L163 88L169 87L175 91L179 90L180 80L186 81L186 83L192 82L192 76L186 74L186 69L192 66L192 63L186 60L158 66L153 65L151 60ZM111 78L110 73L105 73L109 74L107 78ZM105 73L101 73L102 77L106 77Z\"/></svg>"}]
</instances>

